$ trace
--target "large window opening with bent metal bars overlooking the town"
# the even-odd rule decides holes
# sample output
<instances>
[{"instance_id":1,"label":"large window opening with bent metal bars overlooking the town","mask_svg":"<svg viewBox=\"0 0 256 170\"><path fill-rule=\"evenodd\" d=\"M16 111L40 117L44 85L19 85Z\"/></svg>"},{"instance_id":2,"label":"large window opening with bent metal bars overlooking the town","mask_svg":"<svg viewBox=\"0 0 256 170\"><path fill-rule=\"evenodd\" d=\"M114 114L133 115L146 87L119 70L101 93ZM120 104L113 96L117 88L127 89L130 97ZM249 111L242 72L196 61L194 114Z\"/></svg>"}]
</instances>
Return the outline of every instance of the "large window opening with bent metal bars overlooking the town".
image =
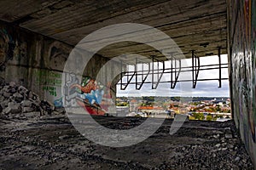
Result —
<instances>
[{"instance_id":1,"label":"large window opening with bent metal bars overlooking the town","mask_svg":"<svg viewBox=\"0 0 256 170\"><path fill-rule=\"evenodd\" d=\"M117 84L117 115L174 118L185 114L190 120L230 120L227 54L201 57L197 65L191 60L127 65ZM152 67L154 71L148 71ZM160 80L157 88L155 80Z\"/></svg>"}]
</instances>

